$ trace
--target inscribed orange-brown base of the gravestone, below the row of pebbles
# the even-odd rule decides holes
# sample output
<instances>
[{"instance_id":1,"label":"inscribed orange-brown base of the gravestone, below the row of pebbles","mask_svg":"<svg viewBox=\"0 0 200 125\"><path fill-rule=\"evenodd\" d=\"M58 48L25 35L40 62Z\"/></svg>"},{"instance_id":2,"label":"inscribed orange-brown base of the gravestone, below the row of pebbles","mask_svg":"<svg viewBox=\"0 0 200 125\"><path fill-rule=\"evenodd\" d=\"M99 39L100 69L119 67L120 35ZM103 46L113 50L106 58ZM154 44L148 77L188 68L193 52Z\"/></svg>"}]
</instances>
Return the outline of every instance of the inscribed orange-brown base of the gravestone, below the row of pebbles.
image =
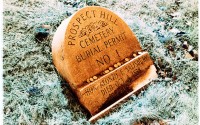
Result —
<instances>
[{"instance_id":1,"label":"inscribed orange-brown base of the gravestone, below the row of pebbles","mask_svg":"<svg viewBox=\"0 0 200 125\"><path fill-rule=\"evenodd\" d=\"M149 54L142 52L97 80L78 88L76 94L79 101L91 115L95 115L131 92L133 88L137 88L143 78L140 78L140 81L137 79L145 74L151 65L153 65L153 61ZM135 80L138 83L134 82L133 84Z\"/></svg>"}]
</instances>

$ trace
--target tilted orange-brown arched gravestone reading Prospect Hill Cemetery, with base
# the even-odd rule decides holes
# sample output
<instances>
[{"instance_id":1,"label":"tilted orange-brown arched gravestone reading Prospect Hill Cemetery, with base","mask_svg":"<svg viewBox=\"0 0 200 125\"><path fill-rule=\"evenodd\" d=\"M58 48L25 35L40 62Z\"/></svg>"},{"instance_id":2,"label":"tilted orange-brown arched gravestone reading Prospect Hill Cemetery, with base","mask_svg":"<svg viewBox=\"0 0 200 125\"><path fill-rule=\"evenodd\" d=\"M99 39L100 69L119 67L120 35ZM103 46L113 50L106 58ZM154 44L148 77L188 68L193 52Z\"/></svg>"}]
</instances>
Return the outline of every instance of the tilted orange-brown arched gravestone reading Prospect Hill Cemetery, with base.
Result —
<instances>
[{"instance_id":1,"label":"tilted orange-brown arched gravestone reading Prospect Hill Cemetery, with base","mask_svg":"<svg viewBox=\"0 0 200 125\"><path fill-rule=\"evenodd\" d=\"M64 20L52 56L92 115L130 92L132 82L153 64L128 25L102 7L85 7Z\"/></svg>"}]
</instances>

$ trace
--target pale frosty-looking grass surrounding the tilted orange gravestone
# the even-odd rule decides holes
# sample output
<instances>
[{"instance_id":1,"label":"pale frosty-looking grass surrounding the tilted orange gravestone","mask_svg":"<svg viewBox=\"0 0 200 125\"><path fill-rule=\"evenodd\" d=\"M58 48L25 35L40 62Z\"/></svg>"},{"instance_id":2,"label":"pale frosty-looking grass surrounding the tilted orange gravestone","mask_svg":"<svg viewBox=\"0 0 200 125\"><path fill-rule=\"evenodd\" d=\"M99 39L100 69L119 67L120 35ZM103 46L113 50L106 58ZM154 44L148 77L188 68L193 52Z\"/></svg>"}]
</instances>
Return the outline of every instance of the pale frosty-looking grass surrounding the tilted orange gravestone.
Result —
<instances>
[{"instance_id":1,"label":"pale frosty-looking grass surrounding the tilted orange gravestone","mask_svg":"<svg viewBox=\"0 0 200 125\"><path fill-rule=\"evenodd\" d=\"M53 33L67 18L66 11L74 13L85 6L85 1L77 8L64 5L64 1L4 0L5 125L90 124L88 113L69 88L61 89L66 83L52 63ZM159 74L145 91L133 95L96 124L156 124L159 120L174 125L198 123L198 62L186 58L182 48L187 41L198 49L197 0L176 1L93 1L124 19L151 54ZM52 31L44 41L36 41L34 31L41 24L51 25ZM172 29L185 34L177 36Z\"/></svg>"}]
</instances>

